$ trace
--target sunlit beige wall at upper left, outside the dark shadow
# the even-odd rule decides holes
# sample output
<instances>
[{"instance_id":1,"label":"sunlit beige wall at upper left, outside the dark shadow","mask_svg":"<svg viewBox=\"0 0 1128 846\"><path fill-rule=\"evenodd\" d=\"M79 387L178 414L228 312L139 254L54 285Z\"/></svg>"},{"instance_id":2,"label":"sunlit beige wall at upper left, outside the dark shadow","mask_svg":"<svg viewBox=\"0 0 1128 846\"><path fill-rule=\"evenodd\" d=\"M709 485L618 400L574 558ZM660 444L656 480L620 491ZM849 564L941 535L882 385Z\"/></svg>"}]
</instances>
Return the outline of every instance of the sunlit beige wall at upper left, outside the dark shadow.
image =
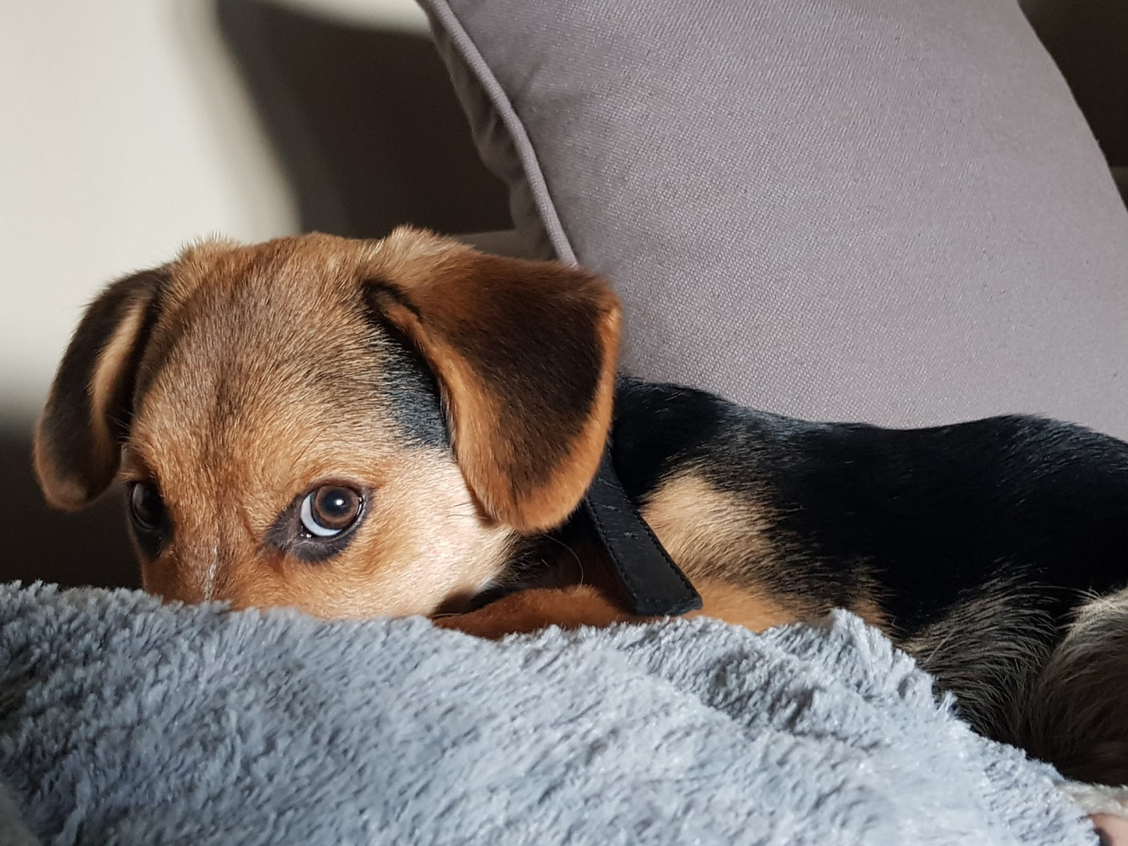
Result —
<instances>
[{"instance_id":1,"label":"sunlit beige wall at upper left, outside the dark shadow","mask_svg":"<svg viewBox=\"0 0 1128 846\"><path fill-rule=\"evenodd\" d=\"M412 0L289 6L426 28ZM199 236L299 219L211 3L2 0L0 104L0 421L24 429L103 283Z\"/></svg>"}]
</instances>

